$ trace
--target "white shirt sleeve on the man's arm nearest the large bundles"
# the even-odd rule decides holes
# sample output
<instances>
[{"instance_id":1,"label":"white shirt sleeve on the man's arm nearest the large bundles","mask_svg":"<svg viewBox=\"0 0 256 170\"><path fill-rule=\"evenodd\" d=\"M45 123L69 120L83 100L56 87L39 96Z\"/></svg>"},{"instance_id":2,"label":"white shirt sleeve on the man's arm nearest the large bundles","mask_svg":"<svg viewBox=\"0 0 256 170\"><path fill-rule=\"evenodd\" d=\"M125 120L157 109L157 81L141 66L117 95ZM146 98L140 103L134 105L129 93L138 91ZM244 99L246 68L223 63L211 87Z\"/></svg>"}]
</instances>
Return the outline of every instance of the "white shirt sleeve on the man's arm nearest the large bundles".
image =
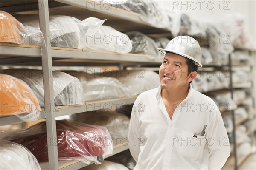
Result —
<instances>
[{"instance_id":1,"label":"white shirt sleeve on the man's arm nearest the large bundles","mask_svg":"<svg viewBox=\"0 0 256 170\"><path fill-rule=\"evenodd\" d=\"M134 105L136 105L134 103ZM131 152L132 157L136 162L138 162L138 157L140 153L140 133L139 133L139 121L136 115L137 112L134 112L134 107L131 112L131 120L129 125L129 132L128 132L128 145Z\"/></svg>"}]
</instances>

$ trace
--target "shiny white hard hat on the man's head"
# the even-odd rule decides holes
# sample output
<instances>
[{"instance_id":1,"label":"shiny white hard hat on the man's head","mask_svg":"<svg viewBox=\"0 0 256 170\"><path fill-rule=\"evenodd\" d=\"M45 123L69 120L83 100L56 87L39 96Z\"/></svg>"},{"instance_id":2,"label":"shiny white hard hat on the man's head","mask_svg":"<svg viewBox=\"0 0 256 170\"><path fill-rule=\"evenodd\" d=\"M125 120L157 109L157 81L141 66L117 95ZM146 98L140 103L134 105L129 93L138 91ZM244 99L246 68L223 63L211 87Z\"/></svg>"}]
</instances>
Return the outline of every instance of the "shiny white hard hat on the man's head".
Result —
<instances>
[{"instance_id":1,"label":"shiny white hard hat on the man's head","mask_svg":"<svg viewBox=\"0 0 256 170\"><path fill-rule=\"evenodd\" d=\"M173 38L166 46L165 49L157 48L163 55L166 52L175 53L191 59L195 65L198 67L203 67L201 64L202 52L200 45L197 40L190 36L178 36Z\"/></svg>"}]
</instances>

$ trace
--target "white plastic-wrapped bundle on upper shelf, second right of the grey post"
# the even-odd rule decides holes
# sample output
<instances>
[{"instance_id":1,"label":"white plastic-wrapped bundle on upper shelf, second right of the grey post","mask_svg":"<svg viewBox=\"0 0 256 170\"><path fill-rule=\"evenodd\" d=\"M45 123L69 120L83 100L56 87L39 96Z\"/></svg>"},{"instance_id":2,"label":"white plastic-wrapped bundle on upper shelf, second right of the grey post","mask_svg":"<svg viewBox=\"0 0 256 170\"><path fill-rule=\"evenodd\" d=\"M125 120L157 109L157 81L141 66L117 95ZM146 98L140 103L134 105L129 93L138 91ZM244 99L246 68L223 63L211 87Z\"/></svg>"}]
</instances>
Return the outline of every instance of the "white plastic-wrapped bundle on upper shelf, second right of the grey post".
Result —
<instances>
[{"instance_id":1,"label":"white plastic-wrapped bundle on upper shelf, second right of the grey post","mask_svg":"<svg viewBox=\"0 0 256 170\"><path fill-rule=\"evenodd\" d=\"M94 36L87 36L84 49L129 53L132 49L129 37L109 26L101 26Z\"/></svg>"}]
</instances>

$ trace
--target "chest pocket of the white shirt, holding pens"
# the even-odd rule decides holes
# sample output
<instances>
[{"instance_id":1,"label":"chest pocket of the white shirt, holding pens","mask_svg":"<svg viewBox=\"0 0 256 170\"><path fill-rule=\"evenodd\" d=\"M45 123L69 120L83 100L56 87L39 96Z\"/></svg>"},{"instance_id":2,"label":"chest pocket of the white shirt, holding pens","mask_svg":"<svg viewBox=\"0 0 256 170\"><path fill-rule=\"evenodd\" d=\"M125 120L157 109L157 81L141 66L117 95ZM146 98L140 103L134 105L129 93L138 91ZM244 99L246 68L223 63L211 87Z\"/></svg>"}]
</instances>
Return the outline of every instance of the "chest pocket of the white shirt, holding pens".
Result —
<instances>
[{"instance_id":1,"label":"chest pocket of the white shirt, holding pens","mask_svg":"<svg viewBox=\"0 0 256 170\"><path fill-rule=\"evenodd\" d=\"M198 135L193 137L194 134L183 130L180 136L179 153L182 156L189 158L196 158L202 154L206 144L205 136Z\"/></svg>"}]
</instances>

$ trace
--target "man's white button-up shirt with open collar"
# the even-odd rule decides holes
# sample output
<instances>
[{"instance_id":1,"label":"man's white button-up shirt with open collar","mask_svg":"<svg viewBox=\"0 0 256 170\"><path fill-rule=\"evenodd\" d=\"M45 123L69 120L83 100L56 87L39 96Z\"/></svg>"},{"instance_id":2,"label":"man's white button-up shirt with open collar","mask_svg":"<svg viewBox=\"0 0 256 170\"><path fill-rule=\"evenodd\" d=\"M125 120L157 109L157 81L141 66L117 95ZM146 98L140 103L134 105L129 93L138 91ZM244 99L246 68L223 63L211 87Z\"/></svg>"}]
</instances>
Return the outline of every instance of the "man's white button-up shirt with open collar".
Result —
<instances>
[{"instance_id":1,"label":"man's white button-up shirt with open collar","mask_svg":"<svg viewBox=\"0 0 256 170\"><path fill-rule=\"evenodd\" d=\"M201 136L204 126L204 136ZM170 119L161 87L140 94L131 113L129 148L134 170L220 170L230 155L217 105L190 85Z\"/></svg>"}]
</instances>

